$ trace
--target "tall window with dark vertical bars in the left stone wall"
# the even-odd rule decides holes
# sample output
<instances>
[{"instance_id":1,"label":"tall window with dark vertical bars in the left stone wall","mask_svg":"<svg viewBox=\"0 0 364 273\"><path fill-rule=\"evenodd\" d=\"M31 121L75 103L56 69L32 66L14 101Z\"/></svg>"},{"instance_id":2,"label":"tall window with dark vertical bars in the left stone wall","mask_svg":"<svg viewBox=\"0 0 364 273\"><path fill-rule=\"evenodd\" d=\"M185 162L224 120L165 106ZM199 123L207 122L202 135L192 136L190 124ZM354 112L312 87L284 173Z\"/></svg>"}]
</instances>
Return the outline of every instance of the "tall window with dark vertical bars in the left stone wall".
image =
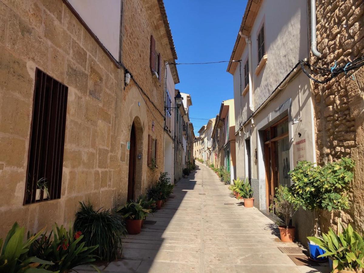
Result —
<instances>
[{"instance_id":1,"label":"tall window with dark vertical bars in the left stone wall","mask_svg":"<svg viewBox=\"0 0 364 273\"><path fill-rule=\"evenodd\" d=\"M24 205L61 197L68 87L35 73Z\"/></svg>"}]
</instances>

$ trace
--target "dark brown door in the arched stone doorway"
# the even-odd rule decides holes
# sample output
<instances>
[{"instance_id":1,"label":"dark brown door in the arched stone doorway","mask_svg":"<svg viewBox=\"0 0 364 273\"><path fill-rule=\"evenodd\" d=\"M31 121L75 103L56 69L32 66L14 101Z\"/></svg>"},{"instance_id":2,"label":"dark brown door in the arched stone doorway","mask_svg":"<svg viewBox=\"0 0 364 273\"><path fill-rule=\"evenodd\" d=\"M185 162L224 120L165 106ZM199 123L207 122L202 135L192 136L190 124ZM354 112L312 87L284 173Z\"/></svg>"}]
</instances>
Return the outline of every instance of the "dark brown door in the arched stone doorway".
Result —
<instances>
[{"instance_id":1,"label":"dark brown door in the arched stone doorway","mask_svg":"<svg viewBox=\"0 0 364 273\"><path fill-rule=\"evenodd\" d=\"M130 131L128 201L135 199L135 173L137 169L137 133L133 122Z\"/></svg>"}]
</instances>

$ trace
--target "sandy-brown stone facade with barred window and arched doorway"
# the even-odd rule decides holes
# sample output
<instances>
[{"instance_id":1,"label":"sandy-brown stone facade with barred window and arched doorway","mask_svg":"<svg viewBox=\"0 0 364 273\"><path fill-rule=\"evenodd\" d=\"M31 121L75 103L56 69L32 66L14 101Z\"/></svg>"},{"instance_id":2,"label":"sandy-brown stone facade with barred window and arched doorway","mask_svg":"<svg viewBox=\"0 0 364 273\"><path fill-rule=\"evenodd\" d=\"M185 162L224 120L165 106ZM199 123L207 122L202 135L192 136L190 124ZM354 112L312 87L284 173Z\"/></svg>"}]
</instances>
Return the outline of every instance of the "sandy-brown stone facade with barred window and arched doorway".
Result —
<instances>
[{"instance_id":1,"label":"sandy-brown stone facade with barred window and arched doorway","mask_svg":"<svg viewBox=\"0 0 364 273\"><path fill-rule=\"evenodd\" d=\"M131 131L141 155L132 195L144 193L163 170L165 66L160 79L151 73L151 36L159 64L177 59L163 1L123 0L120 26L116 58L68 1L0 0L0 237L15 221L31 232L68 225L79 201L95 208L124 203ZM60 198L24 205L38 70L68 88L62 181ZM156 170L148 166L150 139Z\"/></svg>"}]
</instances>

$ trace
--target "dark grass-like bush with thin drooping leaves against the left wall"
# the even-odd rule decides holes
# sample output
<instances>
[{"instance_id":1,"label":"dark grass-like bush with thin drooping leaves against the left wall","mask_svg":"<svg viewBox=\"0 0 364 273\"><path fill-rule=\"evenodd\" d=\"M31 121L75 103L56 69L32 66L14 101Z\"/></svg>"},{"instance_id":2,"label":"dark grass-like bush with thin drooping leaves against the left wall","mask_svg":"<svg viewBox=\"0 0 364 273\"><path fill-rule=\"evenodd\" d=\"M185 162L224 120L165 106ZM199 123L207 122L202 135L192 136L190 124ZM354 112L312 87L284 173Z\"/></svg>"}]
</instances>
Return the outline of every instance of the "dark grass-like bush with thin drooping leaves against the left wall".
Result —
<instances>
[{"instance_id":1,"label":"dark grass-like bush with thin drooping leaves against the left wall","mask_svg":"<svg viewBox=\"0 0 364 273\"><path fill-rule=\"evenodd\" d=\"M126 229L123 218L109 210L94 210L90 202L80 202L74 230L83 234L85 246L99 245L94 252L100 260L111 261L122 253L122 238Z\"/></svg>"}]
</instances>

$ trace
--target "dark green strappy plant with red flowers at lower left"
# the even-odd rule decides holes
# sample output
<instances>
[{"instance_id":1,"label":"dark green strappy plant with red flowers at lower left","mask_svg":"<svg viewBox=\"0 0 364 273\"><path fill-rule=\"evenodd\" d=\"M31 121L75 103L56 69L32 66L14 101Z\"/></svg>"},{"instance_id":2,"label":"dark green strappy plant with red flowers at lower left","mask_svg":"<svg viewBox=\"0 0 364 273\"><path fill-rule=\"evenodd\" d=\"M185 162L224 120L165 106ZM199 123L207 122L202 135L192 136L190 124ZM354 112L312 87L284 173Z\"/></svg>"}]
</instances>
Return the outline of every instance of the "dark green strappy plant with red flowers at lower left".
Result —
<instances>
[{"instance_id":1,"label":"dark green strappy plant with red flowers at lower left","mask_svg":"<svg viewBox=\"0 0 364 273\"><path fill-rule=\"evenodd\" d=\"M54 240L51 240L52 233ZM66 273L75 266L96 260L93 253L98 245L85 246L85 242L81 242L82 238L81 232L74 233L72 229L67 231L63 226L59 227L55 223L49 235L41 234L37 240L33 241L29 253L53 262L50 265L43 265L42 268L52 272Z\"/></svg>"}]
</instances>

